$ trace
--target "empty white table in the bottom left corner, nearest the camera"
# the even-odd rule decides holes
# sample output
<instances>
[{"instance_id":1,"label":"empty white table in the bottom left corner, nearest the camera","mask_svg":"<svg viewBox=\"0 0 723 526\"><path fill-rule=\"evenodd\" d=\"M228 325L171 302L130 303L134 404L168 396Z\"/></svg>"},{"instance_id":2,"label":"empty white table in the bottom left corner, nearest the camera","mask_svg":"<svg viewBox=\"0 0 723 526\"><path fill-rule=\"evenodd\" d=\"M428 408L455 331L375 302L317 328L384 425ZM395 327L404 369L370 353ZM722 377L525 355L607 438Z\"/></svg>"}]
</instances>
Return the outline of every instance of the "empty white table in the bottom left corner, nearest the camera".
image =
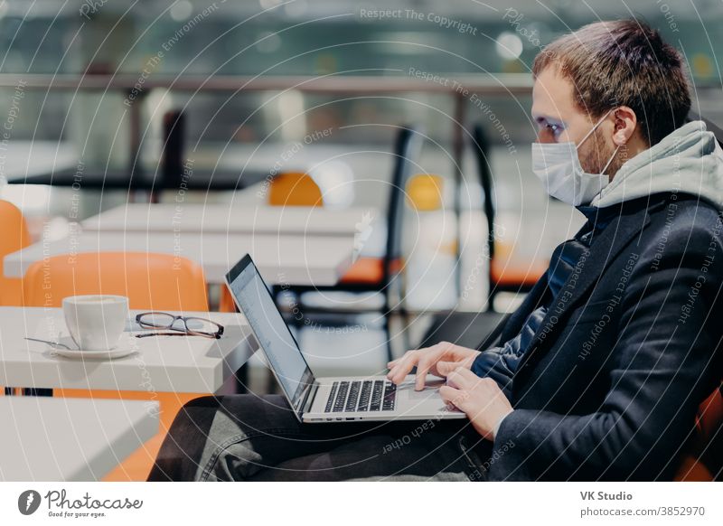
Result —
<instances>
[{"instance_id":1,"label":"empty white table in the bottom left corner, nearest the camera","mask_svg":"<svg viewBox=\"0 0 723 526\"><path fill-rule=\"evenodd\" d=\"M97 481L158 432L158 402L0 398L0 481Z\"/></svg>"}]
</instances>

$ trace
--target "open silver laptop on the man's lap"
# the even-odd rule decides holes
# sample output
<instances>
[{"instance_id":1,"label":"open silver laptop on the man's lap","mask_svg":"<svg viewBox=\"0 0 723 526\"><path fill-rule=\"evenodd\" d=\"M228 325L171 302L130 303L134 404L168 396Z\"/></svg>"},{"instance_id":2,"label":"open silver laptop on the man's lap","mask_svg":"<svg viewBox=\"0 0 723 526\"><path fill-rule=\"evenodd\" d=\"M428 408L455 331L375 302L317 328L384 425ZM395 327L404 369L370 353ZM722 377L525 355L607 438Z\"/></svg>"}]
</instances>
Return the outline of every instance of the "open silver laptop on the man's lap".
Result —
<instances>
[{"instance_id":1,"label":"open silver laptop on the man's lap","mask_svg":"<svg viewBox=\"0 0 723 526\"><path fill-rule=\"evenodd\" d=\"M249 255L230 269L225 282L299 421L465 418L446 406L438 392L445 381L431 375L419 391L414 375L399 385L386 376L315 377Z\"/></svg>"}]
</instances>

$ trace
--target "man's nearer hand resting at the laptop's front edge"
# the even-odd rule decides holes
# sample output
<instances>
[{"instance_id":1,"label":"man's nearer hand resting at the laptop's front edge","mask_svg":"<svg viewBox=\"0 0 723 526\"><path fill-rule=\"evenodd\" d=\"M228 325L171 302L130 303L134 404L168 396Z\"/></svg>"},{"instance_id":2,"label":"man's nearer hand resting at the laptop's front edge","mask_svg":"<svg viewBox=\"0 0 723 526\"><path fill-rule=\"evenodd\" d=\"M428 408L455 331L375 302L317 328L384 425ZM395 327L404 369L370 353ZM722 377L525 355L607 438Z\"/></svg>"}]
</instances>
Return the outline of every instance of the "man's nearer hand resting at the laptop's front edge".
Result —
<instances>
[{"instance_id":1,"label":"man's nearer hand resting at the laptop's front edge","mask_svg":"<svg viewBox=\"0 0 723 526\"><path fill-rule=\"evenodd\" d=\"M446 383L439 388L442 399L463 411L477 433L494 441L497 424L513 410L497 382L457 367L447 375Z\"/></svg>"}]
</instances>

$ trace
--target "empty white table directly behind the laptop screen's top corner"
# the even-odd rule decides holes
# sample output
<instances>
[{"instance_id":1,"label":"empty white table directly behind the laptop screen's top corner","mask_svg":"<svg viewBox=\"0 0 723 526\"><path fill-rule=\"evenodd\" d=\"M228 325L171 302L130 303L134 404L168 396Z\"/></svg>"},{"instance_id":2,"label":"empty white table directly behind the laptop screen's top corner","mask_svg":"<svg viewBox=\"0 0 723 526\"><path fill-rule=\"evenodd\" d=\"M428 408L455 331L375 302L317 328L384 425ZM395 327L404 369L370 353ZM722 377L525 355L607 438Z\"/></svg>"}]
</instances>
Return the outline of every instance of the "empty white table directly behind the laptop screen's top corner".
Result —
<instances>
[{"instance_id":1,"label":"empty white table directly behind the laptop screen's top corner","mask_svg":"<svg viewBox=\"0 0 723 526\"><path fill-rule=\"evenodd\" d=\"M213 234L205 232L71 231L54 241L34 243L5 256L5 276L23 277L35 261L60 254L96 251L161 252L199 263L211 284L247 252L269 285L335 285L352 265L354 238Z\"/></svg>"}]
</instances>

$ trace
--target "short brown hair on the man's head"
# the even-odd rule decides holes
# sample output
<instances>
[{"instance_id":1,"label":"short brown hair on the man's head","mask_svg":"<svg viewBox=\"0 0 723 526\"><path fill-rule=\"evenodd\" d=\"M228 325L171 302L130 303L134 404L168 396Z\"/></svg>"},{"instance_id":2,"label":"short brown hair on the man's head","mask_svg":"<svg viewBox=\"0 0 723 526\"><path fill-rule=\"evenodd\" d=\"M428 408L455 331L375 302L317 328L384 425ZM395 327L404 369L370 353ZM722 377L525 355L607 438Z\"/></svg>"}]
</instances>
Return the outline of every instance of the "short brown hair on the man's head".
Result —
<instances>
[{"instance_id":1,"label":"short brown hair on the man's head","mask_svg":"<svg viewBox=\"0 0 723 526\"><path fill-rule=\"evenodd\" d=\"M681 127L690 111L681 54L639 20L589 23L560 37L535 57L532 75L550 64L572 81L577 106L592 117L632 108L649 146Z\"/></svg>"}]
</instances>

